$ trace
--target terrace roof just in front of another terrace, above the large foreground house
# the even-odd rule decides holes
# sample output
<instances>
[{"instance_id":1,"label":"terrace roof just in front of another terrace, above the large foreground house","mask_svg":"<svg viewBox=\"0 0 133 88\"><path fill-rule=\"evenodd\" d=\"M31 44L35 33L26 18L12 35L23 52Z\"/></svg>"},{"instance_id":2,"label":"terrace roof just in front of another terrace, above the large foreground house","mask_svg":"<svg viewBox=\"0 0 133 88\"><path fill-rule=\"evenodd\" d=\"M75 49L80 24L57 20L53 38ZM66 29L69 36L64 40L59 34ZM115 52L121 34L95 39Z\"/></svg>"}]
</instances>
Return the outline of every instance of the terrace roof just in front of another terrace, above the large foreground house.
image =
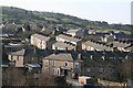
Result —
<instances>
[{"instance_id":1,"label":"terrace roof just in front of another terrace, above the large foreground house","mask_svg":"<svg viewBox=\"0 0 133 88\"><path fill-rule=\"evenodd\" d=\"M68 47L68 50L73 50L75 48L75 46L72 46L70 44L63 43L63 42L57 42L53 44L55 47L60 47L60 48L65 48Z\"/></svg>"}]
</instances>

